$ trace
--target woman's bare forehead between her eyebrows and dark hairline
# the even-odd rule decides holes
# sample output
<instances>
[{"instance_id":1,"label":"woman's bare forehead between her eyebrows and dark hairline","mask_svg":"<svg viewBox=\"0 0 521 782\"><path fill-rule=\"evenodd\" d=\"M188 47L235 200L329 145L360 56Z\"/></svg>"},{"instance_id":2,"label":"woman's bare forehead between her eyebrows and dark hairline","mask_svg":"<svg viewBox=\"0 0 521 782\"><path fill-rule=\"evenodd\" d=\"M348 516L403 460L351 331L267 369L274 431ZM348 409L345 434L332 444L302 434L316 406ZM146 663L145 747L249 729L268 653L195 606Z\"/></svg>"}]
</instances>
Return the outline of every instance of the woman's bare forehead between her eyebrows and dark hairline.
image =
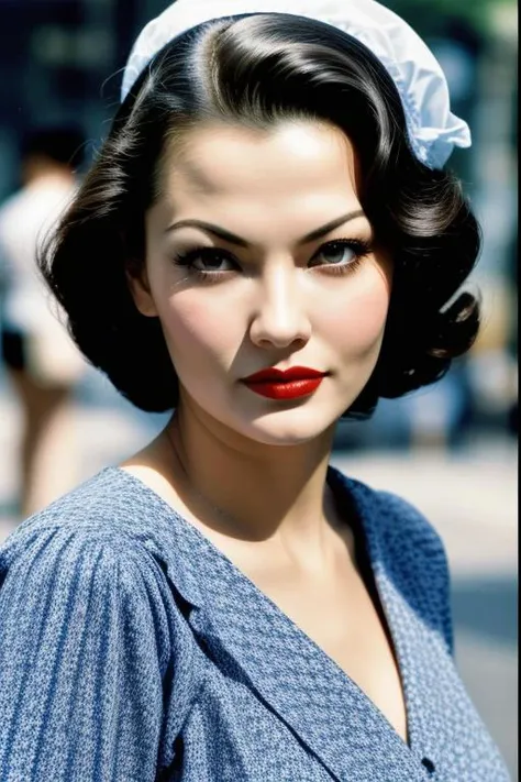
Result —
<instances>
[{"instance_id":1,"label":"woman's bare forehead between her eyebrows and dark hairline","mask_svg":"<svg viewBox=\"0 0 521 782\"><path fill-rule=\"evenodd\" d=\"M170 142L162 161L162 197L178 203L309 198L337 194L357 200L356 155L350 140L317 121L269 129L199 125Z\"/></svg>"}]
</instances>

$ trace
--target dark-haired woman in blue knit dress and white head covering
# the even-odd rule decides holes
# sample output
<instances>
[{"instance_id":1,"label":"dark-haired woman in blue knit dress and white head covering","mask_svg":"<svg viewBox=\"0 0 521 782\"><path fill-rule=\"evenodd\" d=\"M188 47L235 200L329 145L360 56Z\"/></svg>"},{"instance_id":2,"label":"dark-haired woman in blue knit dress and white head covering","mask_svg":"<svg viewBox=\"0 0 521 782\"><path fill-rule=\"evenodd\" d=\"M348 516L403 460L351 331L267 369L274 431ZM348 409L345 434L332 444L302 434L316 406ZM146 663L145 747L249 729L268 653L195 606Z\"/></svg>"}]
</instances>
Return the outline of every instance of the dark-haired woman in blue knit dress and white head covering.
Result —
<instances>
[{"instance_id":1,"label":"dark-haired woman in blue knit dress and white head covering","mask_svg":"<svg viewBox=\"0 0 521 782\"><path fill-rule=\"evenodd\" d=\"M506 780L440 539L329 466L342 415L478 328L437 64L368 0L179 0L122 98L43 267L89 360L175 412L2 551L2 780Z\"/></svg>"}]
</instances>

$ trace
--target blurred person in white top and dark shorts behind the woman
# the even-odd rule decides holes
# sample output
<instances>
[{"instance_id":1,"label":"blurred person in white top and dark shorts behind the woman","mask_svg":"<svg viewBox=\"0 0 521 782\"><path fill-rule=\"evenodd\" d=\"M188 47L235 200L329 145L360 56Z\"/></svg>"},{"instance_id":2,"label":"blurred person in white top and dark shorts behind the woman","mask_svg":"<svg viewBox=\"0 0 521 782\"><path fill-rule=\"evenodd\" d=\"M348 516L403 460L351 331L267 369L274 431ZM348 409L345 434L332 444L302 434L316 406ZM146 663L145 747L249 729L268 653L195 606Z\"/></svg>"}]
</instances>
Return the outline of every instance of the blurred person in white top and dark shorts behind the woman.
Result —
<instances>
[{"instance_id":1,"label":"blurred person in white top and dark shorts behind the woman","mask_svg":"<svg viewBox=\"0 0 521 782\"><path fill-rule=\"evenodd\" d=\"M22 517L64 494L76 478L70 401L86 364L51 307L36 252L76 191L82 153L76 128L31 132L22 143L22 187L0 208L1 342L23 416Z\"/></svg>"}]
</instances>

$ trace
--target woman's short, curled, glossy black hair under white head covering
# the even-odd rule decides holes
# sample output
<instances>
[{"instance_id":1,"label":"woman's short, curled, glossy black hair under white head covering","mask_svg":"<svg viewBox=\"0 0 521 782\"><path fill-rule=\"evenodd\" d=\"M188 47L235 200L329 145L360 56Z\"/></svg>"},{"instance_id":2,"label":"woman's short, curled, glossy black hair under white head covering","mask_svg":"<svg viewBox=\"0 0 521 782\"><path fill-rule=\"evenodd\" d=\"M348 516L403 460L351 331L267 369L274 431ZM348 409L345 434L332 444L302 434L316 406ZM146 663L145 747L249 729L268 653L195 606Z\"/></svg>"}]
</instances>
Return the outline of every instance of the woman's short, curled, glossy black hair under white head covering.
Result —
<instances>
[{"instance_id":1,"label":"woman's short, curled, glossy black hair under white head covering","mask_svg":"<svg viewBox=\"0 0 521 782\"><path fill-rule=\"evenodd\" d=\"M309 19L214 20L168 43L137 79L40 258L82 353L143 410L178 400L160 323L137 311L128 284L144 263L144 216L160 195L167 144L200 122L269 130L288 119L325 121L348 136L362 207L395 263L380 355L346 415L368 416L379 397L435 382L476 338L479 302L456 294L479 253L478 224L457 178L412 152L381 63Z\"/></svg>"}]
</instances>

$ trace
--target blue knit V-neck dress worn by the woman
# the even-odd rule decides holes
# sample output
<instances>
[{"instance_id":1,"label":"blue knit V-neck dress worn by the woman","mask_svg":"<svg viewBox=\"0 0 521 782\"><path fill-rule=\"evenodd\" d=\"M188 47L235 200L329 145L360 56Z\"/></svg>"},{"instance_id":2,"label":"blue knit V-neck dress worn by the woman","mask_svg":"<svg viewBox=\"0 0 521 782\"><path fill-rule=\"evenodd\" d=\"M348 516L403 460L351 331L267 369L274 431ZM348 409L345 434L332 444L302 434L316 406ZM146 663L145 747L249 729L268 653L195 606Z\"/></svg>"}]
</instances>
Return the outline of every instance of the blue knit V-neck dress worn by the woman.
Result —
<instances>
[{"instance_id":1,"label":"blue knit V-neck dress worn by the woman","mask_svg":"<svg viewBox=\"0 0 521 782\"><path fill-rule=\"evenodd\" d=\"M190 522L108 467L0 548L1 782L508 782L454 667L446 558L330 469L403 683L404 742Z\"/></svg>"}]
</instances>

